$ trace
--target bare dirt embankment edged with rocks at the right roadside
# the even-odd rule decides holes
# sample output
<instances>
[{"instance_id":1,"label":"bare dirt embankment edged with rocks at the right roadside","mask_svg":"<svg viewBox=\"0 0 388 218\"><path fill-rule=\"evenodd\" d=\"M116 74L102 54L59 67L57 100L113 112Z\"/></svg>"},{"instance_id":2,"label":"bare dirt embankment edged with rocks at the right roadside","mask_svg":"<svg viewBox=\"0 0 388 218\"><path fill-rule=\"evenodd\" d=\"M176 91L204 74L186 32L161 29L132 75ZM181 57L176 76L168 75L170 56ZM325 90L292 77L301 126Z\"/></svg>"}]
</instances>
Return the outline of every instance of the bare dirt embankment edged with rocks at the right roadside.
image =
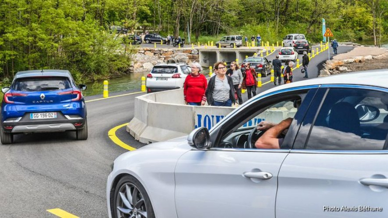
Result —
<instances>
[{"instance_id":1,"label":"bare dirt embankment edged with rocks at the right roadside","mask_svg":"<svg viewBox=\"0 0 388 218\"><path fill-rule=\"evenodd\" d=\"M377 69L388 69L388 50L360 46L326 61L320 76Z\"/></svg>"}]
</instances>

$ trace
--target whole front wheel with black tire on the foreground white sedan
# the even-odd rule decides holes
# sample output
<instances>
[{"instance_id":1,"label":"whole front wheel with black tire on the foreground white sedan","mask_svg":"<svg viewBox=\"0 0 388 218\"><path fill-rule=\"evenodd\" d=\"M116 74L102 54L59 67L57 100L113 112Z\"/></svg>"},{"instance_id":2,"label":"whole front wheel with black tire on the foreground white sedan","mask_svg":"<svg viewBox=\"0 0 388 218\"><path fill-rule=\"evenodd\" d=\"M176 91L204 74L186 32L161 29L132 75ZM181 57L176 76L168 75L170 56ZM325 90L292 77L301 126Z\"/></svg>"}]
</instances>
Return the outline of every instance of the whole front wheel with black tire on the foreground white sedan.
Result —
<instances>
[{"instance_id":1,"label":"whole front wheel with black tire on the foreground white sedan","mask_svg":"<svg viewBox=\"0 0 388 218\"><path fill-rule=\"evenodd\" d=\"M131 195L131 198L127 196L127 193ZM133 199L133 194L136 195L135 199ZM135 204L138 203L139 199L144 199L144 201L136 206ZM134 200L136 201L135 203ZM136 208L136 210L130 209L130 207ZM131 175L125 175L118 181L114 189L113 199L111 199L111 209L113 218L132 217L132 215L138 217L137 215L141 215L143 212L146 212L147 218L155 218L155 212L146 189L144 189L139 180Z\"/></svg>"}]
</instances>

